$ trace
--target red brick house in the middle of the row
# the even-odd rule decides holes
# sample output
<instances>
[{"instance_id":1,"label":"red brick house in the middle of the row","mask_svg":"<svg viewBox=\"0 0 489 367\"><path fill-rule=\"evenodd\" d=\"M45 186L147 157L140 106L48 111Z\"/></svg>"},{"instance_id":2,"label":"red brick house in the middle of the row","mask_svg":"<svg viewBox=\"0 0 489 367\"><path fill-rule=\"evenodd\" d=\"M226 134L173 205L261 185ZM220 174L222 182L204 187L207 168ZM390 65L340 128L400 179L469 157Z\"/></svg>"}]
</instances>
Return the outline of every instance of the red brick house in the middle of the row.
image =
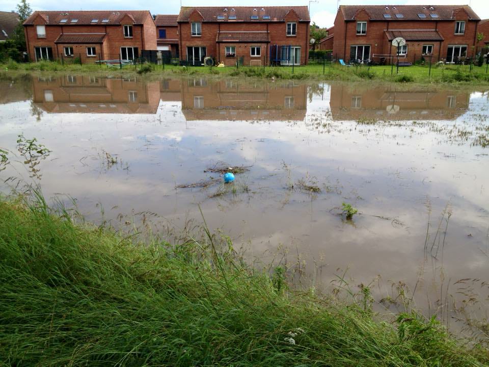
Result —
<instances>
[{"instance_id":1,"label":"red brick house in the middle of the row","mask_svg":"<svg viewBox=\"0 0 489 367\"><path fill-rule=\"evenodd\" d=\"M201 65L305 65L309 11L298 7L182 7L178 15L181 59Z\"/></svg>"}]
</instances>

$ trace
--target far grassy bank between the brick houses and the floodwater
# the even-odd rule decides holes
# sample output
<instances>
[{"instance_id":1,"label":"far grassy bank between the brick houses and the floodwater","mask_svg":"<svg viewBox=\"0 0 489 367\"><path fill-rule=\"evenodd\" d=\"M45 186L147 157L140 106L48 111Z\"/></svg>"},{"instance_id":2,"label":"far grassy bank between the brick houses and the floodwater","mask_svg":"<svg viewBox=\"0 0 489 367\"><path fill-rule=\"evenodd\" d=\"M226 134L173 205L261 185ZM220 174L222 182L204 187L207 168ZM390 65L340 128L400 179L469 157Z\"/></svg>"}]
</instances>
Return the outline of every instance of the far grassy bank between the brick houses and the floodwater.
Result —
<instances>
[{"instance_id":1,"label":"far grassy bank between the brick houses and the floodwater","mask_svg":"<svg viewBox=\"0 0 489 367\"><path fill-rule=\"evenodd\" d=\"M397 83L418 83L418 84L461 84L461 85L489 85L489 73L486 73L486 66L469 65L432 65L431 71L428 66L400 67L399 74L396 68L391 66L341 66L338 64L322 64L311 62L306 66L288 67L183 67L174 65L135 65L125 66L122 69L117 67L107 67L106 65L78 65L65 64L58 62L38 62L28 64L18 64L10 62L0 65L0 69L9 72L28 71L37 72L61 72L90 75L137 75L138 72L148 72L150 75L207 75L207 76L235 76L235 77L255 77L255 78L278 78L289 80L317 80L317 81L379 81ZM143 70L142 70L143 69ZM393 70L393 74L391 74Z\"/></svg>"}]
</instances>

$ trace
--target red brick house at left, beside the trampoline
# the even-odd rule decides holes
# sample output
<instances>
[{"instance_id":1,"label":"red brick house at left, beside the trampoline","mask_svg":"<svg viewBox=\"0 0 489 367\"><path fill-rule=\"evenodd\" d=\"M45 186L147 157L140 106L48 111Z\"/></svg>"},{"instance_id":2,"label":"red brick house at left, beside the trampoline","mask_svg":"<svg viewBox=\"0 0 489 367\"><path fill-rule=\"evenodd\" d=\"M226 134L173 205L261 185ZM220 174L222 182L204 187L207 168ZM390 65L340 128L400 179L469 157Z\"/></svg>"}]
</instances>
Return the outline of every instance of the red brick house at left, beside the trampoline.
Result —
<instances>
[{"instance_id":1,"label":"red brick house at left, beside the trampoline","mask_svg":"<svg viewBox=\"0 0 489 367\"><path fill-rule=\"evenodd\" d=\"M133 60L156 50L153 17L144 11L36 11L23 23L32 61Z\"/></svg>"}]
</instances>

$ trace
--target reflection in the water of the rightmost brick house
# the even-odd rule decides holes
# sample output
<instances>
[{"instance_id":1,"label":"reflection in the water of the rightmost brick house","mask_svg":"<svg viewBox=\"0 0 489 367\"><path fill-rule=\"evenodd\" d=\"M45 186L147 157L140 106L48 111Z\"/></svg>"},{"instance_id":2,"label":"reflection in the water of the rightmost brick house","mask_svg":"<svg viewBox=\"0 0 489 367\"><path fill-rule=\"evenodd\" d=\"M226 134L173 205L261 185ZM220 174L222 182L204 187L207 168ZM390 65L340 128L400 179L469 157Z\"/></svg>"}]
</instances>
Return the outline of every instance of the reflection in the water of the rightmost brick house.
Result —
<instances>
[{"instance_id":1,"label":"reflection in the water of the rightmost brick house","mask_svg":"<svg viewBox=\"0 0 489 367\"><path fill-rule=\"evenodd\" d=\"M452 120L466 112L469 98L469 93L461 91L333 84L330 106L334 120Z\"/></svg>"}]
</instances>

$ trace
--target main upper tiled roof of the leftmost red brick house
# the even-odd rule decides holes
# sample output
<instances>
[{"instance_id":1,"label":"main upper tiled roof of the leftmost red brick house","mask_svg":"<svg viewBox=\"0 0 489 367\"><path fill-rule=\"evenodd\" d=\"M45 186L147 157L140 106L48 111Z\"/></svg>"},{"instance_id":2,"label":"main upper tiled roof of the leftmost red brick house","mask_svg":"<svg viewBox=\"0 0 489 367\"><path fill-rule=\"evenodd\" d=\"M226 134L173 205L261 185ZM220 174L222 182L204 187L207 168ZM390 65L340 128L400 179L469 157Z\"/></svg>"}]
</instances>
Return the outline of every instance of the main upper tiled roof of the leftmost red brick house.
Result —
<instances>
[{"instance_id":1,"label":"main upper tiled roof of the leftmost red brick house","mask_svg":"<svg viewBox=\"0 0 489 367\"><path fill-rule=\"evenodd\" d=\"M24 25L33 24L34 19L41 15L46 19L46 24L49 25L80 25L80 24L102 24L102 25L120 25L121 20L125 15L134 19L134 24L143 24L151 14L148 10L104 10L104 11L35 11L29 18L24 21ZM62 19L66 22L60 23ZM78 19L72 22L72 19ZM96 23L92 22L97 19ZM102 19L108 19L108 22L102 22ZM152 17L151 17L152 19Z\"/></svg>"}]
</instances>

